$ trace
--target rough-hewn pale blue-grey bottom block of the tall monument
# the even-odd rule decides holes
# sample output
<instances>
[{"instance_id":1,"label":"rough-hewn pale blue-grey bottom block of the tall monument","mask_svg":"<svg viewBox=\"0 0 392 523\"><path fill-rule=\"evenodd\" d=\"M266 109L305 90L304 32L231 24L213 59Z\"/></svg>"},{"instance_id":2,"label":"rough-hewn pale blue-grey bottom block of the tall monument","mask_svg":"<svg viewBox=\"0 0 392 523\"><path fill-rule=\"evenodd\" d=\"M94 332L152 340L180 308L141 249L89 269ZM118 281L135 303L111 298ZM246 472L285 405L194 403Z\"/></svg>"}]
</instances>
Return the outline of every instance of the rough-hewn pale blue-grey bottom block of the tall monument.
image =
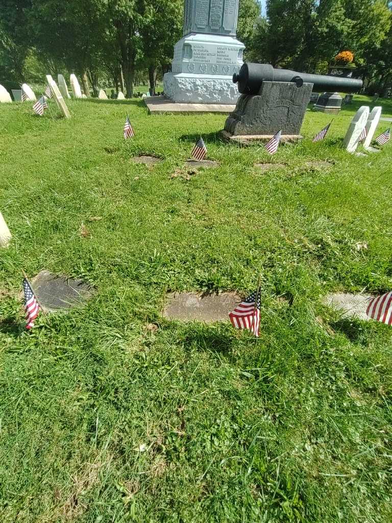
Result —
<instances>
[{"instance_id":1,"label":"rough-hewn pale blue-grey bottom block of the tall monument","mask_svg":"<svg viewBox=\"0 0 392 523\"><path fill-rule=\"evenodd\" d=\"M212 74L166 73L164 91L176 103L227 104L238 100L238 89L232 76Z\"/></svg>"}]
</instances>

